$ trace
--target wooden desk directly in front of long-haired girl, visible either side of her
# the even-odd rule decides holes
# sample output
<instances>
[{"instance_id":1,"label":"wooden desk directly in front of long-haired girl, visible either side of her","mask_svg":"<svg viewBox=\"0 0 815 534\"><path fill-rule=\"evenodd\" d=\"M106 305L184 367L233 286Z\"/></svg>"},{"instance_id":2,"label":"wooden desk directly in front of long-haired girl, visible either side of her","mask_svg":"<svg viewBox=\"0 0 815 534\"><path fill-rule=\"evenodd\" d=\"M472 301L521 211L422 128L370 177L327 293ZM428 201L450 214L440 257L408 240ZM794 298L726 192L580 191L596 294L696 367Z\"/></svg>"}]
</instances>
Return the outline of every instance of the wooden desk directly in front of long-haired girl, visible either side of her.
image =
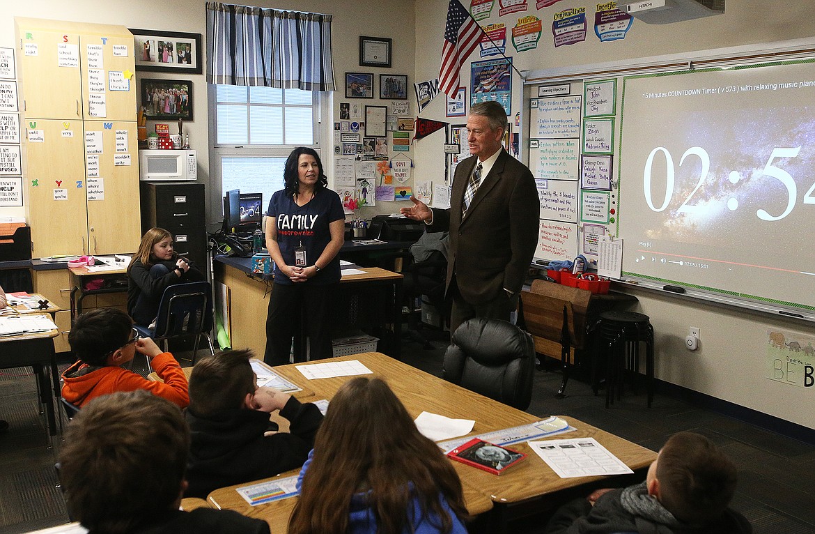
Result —
<instances>
[{"instance_id":1,"label":"wooden desk directly in front of long-haired girl, visible either side of her","mask_svg":"<svg viewBox=\"0 0 815 534\"><path fill-rule=\"evenodd\" d=\"M209 494L207 501L209 501L210 506L218 510L235 510L250 518L263 519L269 523L271 532L286 532L289 527L289 518L292 515L294 505L297 504L299 497L295 496L288 499L281 499L280 501L268 502L263 505L252 506L249 505L236 490L237 488L251 486L255 483L269 482L277 478L288 476L297 476L299 472L300 470L295 469L281 473L276 477L235 484L227 488L219 488ZM492 509L492 501L482 492L464 483L464 481L462 481L462 488L464 489L464 500L469 514L476 516Z\"/></svg>"}]
</instances>

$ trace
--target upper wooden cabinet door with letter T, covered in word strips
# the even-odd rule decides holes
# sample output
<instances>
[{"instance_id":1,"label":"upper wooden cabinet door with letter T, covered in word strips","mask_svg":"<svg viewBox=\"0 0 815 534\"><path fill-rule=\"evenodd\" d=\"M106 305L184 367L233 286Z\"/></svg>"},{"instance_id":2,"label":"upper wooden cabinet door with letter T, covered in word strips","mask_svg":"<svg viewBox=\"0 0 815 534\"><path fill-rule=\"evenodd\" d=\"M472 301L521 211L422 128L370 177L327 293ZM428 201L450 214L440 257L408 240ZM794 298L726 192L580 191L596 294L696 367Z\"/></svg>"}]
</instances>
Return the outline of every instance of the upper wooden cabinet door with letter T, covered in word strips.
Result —
<instances>
[{"instance_id":1,"label":"upper wooden cabinet door with letter T, covered in word strips","mask_svg":"<svg viewBox=\"0 0 815 534\"><path fill-rule=\"evenodd\" d=\"M134 40L112 34L81 34L82 96L85 118L135 121Z\"/></svg>"}]
</instances>

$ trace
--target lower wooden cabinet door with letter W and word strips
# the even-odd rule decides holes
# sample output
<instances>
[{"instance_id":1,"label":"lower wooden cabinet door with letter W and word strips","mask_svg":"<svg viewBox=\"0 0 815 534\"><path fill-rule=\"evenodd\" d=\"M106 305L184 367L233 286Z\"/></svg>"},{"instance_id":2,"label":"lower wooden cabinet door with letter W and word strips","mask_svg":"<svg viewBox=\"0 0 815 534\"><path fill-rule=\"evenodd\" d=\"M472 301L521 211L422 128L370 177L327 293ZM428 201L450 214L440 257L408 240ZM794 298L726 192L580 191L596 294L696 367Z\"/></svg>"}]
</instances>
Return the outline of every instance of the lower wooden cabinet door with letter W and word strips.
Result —
<instances>
[{"instance_id":1,"label":"lower wooden cabinet door with letter W and word strips","mask_svg":"<svg viewBox=\"0 0 815 534\"><path fill-rule=\"evenodd\" d=\"M136 123L85 121L85 139L90 252L133 253L141 241ZM99 176L90 175L95 160Z\"/></svg>"}]
</instances>

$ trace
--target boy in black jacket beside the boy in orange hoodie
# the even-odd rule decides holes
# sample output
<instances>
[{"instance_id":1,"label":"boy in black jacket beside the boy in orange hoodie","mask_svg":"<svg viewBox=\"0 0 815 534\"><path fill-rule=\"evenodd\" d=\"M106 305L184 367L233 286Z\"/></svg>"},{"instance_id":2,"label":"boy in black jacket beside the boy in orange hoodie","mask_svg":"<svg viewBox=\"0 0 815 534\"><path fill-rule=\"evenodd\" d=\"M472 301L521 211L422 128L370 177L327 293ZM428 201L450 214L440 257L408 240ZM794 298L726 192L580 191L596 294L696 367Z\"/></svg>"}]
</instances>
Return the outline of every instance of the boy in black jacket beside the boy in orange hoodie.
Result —
<instances>
[{"instance_id":1,"label":"boy in black jacket beside the boy in orange hoodie","mask_svg":"<svg viewBox=\"0 0 815 534\"><path fill-rule=\"evenodd\" d=\"M190 377L187 423L192 444L185 496L301 467L314 447L323 414L314 404L258 387L251 351L218 352L196 363ZM269 413L280 410L289 432L271 432Z\"/></svg>"}]
</instances>

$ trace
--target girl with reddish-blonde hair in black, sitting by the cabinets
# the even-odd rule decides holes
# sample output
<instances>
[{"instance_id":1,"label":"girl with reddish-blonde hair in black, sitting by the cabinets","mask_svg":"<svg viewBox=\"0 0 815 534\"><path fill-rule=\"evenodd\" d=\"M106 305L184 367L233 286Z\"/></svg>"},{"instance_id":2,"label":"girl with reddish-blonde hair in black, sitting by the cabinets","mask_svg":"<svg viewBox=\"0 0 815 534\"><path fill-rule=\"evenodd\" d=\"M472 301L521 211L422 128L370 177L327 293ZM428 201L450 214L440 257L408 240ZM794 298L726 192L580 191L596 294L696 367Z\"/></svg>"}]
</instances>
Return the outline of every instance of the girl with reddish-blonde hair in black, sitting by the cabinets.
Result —
<instances>
[{"instance_id":1,"label":"girl with reddish-blonde hair in black, sitting by the cabinets","mask_svg":"<svg viewBox=\"0 0 815 534\"><path fill-rule=\"evenodd\" d=\"M161 295L168 286L202 280L205 276L201 271L175 252L170 232L150 228L127 267L127 313L135 324L152 329Z\"/></svg>"}]
</instances>

